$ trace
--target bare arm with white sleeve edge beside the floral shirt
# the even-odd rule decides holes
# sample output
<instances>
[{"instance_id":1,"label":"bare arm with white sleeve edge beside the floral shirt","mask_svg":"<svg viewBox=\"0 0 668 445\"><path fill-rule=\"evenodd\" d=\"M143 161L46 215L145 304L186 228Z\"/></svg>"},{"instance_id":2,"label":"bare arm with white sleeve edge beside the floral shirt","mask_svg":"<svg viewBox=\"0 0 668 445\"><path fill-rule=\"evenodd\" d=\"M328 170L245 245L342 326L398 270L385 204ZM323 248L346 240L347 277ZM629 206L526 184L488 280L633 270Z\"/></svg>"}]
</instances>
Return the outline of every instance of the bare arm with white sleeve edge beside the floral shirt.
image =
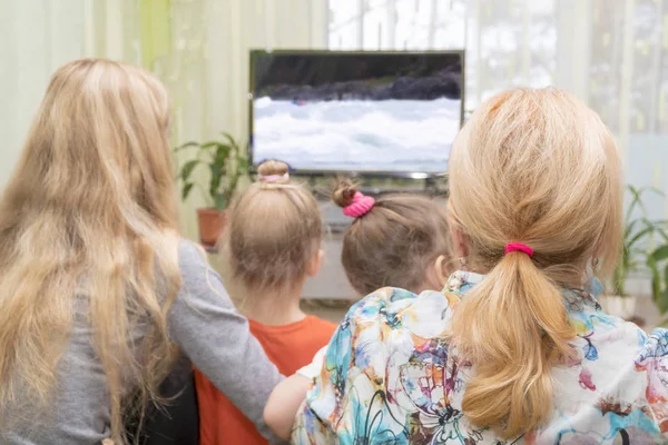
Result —
<instances>
[{"instance_id":1,"label":"bare arm with white sleeve edge beside the floral shirt","mask_svg":"<svg viewBox=\"0 0 668 445\"><path fill-rule=\"evenodd\" d=\"M325 346L315 354L310 365L281 382L272 392L265 406L264 418L278 437L289 439L299 405L304 402L313 379L320 375L326 353Z\"/></svg>"}]
</instances>

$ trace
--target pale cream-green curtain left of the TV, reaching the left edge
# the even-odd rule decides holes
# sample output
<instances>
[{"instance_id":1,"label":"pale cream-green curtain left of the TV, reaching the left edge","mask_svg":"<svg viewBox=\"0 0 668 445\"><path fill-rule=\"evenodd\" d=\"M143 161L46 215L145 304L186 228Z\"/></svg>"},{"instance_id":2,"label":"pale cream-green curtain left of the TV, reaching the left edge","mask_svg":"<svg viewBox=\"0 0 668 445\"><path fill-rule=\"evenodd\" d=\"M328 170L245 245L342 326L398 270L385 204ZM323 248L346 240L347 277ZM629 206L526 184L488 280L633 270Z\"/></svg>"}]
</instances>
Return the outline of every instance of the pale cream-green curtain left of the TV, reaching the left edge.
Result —
<instances>
[{"instance_id":1,"label":"pale cream-green curtain left of the TV, reaching the left edge","mask_svg":"<svg viewBox=\"0 0 668 445\"><path fill-rule=\"evenodd\" d=\"M145 66L174 102L175 145L247 139L248 50L326 48L326 0L0 0L0 189L49 77L81 57ZM206 181L206 171L197 172ZM181 208L195 238L197 195Z\"/></svg>"}]
</instances>

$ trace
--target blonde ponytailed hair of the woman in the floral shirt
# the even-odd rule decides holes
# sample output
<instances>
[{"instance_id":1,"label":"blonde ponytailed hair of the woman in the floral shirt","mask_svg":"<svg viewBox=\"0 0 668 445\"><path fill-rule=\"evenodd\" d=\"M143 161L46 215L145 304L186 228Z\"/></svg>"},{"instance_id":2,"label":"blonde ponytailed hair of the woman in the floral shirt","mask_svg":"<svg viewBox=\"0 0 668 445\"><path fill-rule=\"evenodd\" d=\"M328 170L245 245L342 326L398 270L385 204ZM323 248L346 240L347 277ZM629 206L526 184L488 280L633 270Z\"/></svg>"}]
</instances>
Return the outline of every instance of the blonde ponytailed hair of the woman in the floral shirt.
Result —
<instances>
[{"instance_id":1,"label":"blonde ponytailed hair of the woman in the floral shirt","mask_svg":"<svg viewBox=\"0 0 668 445\"><path fill-rule=\"evenodd\" d=\"M487 273L452 330L474 365L462 402L504 437L552 409L551 367L573 354L560 287L581 287L588 261L608 274L621 239L620 161L599 117L569 93L517 89L483 103L450 159L450 209L469 267ZM530 246L532 257L508 243Z\"/></svg>"}]
</instances>

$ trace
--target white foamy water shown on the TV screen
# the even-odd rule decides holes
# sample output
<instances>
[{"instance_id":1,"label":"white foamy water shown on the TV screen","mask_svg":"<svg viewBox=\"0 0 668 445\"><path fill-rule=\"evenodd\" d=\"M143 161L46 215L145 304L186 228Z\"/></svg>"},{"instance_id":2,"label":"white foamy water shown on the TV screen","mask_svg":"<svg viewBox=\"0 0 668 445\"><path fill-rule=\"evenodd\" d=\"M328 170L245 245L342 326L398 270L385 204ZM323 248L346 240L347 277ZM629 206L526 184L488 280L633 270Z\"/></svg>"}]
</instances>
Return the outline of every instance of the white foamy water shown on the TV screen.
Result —
<instances>
[{"instance_id":1,"label":"white foamy water shown on the TV screen","mask_svg":"<svg viewBox=\"0 0 668 445\"><path fill-rule=\"evenodd\" d=\"M254 160L295 169L428 171L448 168L461 100L254 101Z\"/></svg>"}]
</instances>

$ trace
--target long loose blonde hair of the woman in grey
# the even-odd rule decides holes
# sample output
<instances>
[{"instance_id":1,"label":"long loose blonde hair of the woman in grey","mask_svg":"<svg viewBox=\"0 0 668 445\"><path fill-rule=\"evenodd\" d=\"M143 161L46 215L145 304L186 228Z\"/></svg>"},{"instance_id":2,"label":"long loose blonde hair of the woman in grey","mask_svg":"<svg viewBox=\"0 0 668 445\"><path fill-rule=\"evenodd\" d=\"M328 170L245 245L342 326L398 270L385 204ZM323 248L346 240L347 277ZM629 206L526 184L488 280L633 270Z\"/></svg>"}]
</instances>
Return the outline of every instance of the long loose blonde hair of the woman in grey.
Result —
<instances>
[{"instance_id":1,"label":"long loose blonde hair of the woman in grey","mask_svg":"<svg viewBox=\"0 0 668 445\"><path fill-rule=\"evenodd\" d=\"M86 59L52 77L0 201L2 426L47 408L76 319L95 333L116 443L128 382L157 398L180 286L168 127L141 69Z\"/></svg>"}]
</instances>

